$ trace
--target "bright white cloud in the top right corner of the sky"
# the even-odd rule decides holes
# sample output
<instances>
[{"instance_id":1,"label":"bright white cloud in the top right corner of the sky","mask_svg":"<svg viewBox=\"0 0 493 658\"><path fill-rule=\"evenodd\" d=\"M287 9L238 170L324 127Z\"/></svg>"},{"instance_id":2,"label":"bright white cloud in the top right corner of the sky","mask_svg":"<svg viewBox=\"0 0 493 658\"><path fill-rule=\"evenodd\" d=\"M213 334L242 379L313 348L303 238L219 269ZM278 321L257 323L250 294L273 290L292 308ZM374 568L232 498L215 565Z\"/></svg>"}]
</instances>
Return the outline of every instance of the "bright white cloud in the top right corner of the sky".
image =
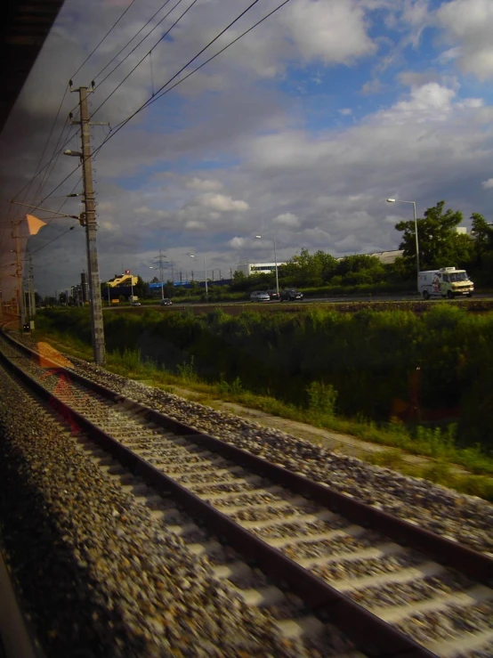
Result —
<instances>
[{"instance_id":1,"label":"bright white cloud in the top right corner of the sky","mask_svg":"<svg viewBox=\"0 0 493 658\"><path fill-rule=\"evenodd\" d=\"M440 6L438 24L452 47L442 53L465 73L480 80L493 77L493 3L491 0L452 0Z\"/></svg>"}]
</instances>

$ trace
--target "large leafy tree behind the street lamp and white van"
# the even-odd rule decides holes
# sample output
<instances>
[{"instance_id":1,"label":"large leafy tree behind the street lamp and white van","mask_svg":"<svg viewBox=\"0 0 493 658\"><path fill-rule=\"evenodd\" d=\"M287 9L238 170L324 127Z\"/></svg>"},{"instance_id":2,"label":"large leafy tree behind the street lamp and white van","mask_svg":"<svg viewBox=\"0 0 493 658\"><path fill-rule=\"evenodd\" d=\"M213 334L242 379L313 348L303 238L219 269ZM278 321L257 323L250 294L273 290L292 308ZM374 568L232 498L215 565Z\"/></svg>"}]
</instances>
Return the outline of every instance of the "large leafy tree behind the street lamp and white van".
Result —
<instances>
[{"instance_id":1,"label":"large leafy tree behind the street lamp and white van","mask_svg":"<svg viewBox=\"0 0 493 658\"><path fill-rule=\"evenodd\" d=\"M462 222L462 213L449 208L443 212L445 201L424 212L424 218L417 220L419 242L419 264L421 270L430 270L447 265L466 265L471 257L473 241L467 235L456 232ZM416 236L414 220L396 223L397 231L403 232L399 245L404 258L416 263Z\"/></svg>"}]
</instances>

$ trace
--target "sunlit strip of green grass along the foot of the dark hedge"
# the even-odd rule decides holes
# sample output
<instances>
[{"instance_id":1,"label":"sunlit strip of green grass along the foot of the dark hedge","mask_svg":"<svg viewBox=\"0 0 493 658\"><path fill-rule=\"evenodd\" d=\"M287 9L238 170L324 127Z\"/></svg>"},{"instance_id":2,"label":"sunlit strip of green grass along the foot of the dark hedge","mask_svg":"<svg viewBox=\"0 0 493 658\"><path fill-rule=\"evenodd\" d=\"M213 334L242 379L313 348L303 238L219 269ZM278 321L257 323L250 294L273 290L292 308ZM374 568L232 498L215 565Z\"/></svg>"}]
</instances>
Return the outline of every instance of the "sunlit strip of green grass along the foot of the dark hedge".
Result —
<instances>
[{"instance_id":1,"label":"sunlit strip of green grass along the foot of the dark hedge","mask_svg":"<svg viewBox=\"0 0 493 658\"><path fill-rule=\"evenodd\" d=\"M67 336L41 336L38 340L50 342L62 352L88 361L92 360L91 347L81 341ZM367 461L398 470L405 475L423 477L432 482L443 484L457 491L462 491L486 500L493 500L493 459L481 451L479 445L460 448L455 441L455 426L445 430L418 426L414 430L394 420L384 425L364 418L342 418L334 413L336 392L325 386L313 386L309 390L311 401L308 409L281 402L269 395L251 393L243 388L237 378L231 383L224 381L207 384L200 380L195 371L194 361L183 362L178 373L171 373L158 368L153 361L141 361L138 350L125 350L124 353L109 353L107 369L126 378L145 381L150 386L161 390L186 396L193 402L214 405L214 399L236 402L252 409L261 410L273 416L287 418L312 426L319 426L336 433L352 435L363 441L388 446L365 458ZM183 388L188 393L183 392ZM409 464L403 459L403 452L429 458L427 465ZM470 473L457 473L457 467L463 467Z\"/></svg>"}]
</instances>

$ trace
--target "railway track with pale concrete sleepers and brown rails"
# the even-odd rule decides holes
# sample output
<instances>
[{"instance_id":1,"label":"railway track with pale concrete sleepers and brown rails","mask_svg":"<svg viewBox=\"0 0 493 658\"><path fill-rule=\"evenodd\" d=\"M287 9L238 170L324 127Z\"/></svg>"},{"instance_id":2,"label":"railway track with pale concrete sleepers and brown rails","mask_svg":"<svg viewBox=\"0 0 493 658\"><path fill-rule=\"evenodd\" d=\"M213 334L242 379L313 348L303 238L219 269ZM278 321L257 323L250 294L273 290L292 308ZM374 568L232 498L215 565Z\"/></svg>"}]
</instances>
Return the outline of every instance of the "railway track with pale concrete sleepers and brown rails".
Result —
<instances>
[{"instance_id":1,"label":"railway track with pale concrete sleepers and brown rails","mask_svg":"<svg viewBox=\"0 0 493 658\"><path fill-rule=\"evenodd\" d=\"M336 627L369 655L493 654L490 556L204 435L70 370L47 370L50 364L41 367L24 346L2 341L2 353L9 368L15 361L18 377L52 404L56 397L59 412L100 444L102 451L86 444L93 459L113 471L118 459L134 474L119 474L126 486L152 487L148 500L156 491L164 494L168 503L154 502L168 528L191 550L206 554L216 576L239 597L274 610L287 636L301 633L309 643L318 638L313 646L320 646L327 632L334 638ZM135 475L146 484L135 483ZM176 504L206 528L190 517L183 521ZM228 540L235 557L211 539L211 531ZM282 587L255 582L245 557L286 582L295 599L287 599ZM336 653L344 653L343 639L337 646Z\"/></svg>"}]
</instances>

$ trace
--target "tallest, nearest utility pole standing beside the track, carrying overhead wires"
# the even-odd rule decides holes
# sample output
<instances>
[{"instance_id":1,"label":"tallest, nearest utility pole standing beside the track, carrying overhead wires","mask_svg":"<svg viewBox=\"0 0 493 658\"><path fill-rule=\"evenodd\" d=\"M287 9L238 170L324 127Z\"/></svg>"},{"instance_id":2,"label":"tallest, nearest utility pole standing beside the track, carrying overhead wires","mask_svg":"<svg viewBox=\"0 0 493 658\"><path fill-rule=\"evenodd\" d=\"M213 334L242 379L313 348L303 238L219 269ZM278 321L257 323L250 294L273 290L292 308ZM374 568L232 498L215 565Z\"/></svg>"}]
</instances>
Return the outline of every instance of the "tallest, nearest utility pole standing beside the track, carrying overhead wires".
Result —
<instances>
[{"instance_id":1,"label":"tallest, nearest utility pole standing beside the track, carrying overhead wires","mask_svg":"<svg viewBox=\"0 0 493 658\"><path fill-rule=\"evenodd\" d=\"M70 81L71 85L71 81ZM93 84L92 84L93 87ZM89 273L89 294L91 296L91 334L93 338L94 361L98 366L106 365L106 353L104 346L104 325L102 321L101 281L100 266L98 262L98 247L96 242L96 212L93 190L93 164L91 160L91 123L89 109L87 107L87 87L72 89L79 94L81 142L82 152L72 153L66 151L67 155L78 155L82 159L82 179L84 185L84 207L80 223L85 226L85 238L87 246L87 270Z\"/></svg>"}]
</instances>

